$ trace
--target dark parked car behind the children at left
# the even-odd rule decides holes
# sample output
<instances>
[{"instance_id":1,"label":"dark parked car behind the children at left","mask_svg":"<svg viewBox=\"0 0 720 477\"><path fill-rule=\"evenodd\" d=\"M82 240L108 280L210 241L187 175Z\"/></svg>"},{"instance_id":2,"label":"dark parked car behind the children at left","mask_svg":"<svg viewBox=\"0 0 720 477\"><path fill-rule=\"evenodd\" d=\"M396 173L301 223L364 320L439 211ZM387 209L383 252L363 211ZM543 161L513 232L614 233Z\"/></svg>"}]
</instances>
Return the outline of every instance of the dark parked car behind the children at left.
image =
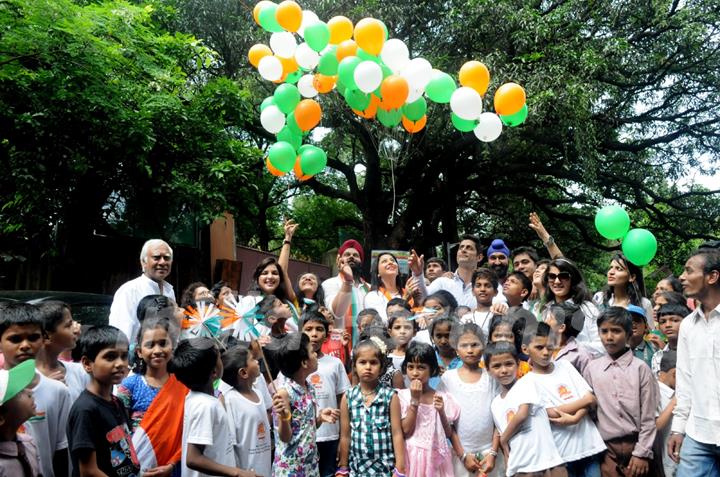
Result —
<instances>
[{"instance_id":1,"label":"dark parked car behind the children at left","mask_svg":"<svg viewBox=\"0 0 720 477\"><path fill-rule=\"evenodd\" d=\"M48 291L48 290L0 290L0 303L20 301L37 305L44 301L59 300L70 305L73 319L83 325L105 325L110 316L112 295L97 293Z\"/></svg>"}]
</instances>

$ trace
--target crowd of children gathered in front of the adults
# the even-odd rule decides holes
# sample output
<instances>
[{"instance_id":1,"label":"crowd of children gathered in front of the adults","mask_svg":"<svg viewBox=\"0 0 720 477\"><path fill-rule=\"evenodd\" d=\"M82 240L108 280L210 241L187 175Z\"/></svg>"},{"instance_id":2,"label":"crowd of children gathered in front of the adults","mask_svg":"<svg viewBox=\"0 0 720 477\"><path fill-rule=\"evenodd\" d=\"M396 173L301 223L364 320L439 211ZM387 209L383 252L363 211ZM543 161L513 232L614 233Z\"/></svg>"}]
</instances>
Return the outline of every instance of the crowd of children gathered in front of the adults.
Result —
<instances>
[{"instance_id":1,"label":"crowd of children gathered in front of the adults","mask_svg":"<svg viewBox=\"0 0 720 477\"><path fill-rule=\"evenodd\" d=\"M545 267L552 293L573 267ZM287 326L272 295L262 339L181 339L158 309L133 346L109 325L78 336L62 303L3 304L0 477L675 475L689 308L664 304L655 325L616 288L592 316L582 299L538 314L524 273L479 269L472 287L474 309L440 290L358 311L354 341L318 304Z\"/></svg>"}]
</instances>

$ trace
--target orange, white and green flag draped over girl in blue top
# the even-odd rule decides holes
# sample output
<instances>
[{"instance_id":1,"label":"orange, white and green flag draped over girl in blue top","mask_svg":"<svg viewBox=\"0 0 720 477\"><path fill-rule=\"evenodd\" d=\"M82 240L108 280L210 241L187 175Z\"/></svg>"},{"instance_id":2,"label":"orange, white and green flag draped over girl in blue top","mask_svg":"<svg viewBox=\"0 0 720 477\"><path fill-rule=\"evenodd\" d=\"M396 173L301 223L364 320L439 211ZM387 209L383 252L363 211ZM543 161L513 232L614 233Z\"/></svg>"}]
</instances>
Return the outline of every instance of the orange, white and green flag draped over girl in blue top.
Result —
<instances>
[{"instance_id":1,"label":"orange, white and green flag draped over girl in blue top","mask_svg":"<svg viewBox=\"0 0 720 477\"><path fill-rule=\"evenodd\" d=\"M188 392L188 388L171 374L135 429L133 445L143 470L180 462L185 395Z\"/></svg>"}]
</instances>

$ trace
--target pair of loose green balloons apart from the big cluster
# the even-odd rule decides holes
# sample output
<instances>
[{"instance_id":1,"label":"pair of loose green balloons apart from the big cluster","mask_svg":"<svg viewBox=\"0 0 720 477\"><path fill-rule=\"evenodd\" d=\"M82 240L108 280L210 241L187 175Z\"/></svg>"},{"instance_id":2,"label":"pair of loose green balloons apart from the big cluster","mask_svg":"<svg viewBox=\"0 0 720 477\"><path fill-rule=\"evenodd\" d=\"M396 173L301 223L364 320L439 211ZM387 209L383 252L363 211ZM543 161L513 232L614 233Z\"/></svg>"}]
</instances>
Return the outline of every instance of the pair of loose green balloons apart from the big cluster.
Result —
<instances>
[{"instance_id":1,"label":"pair of loose green balloons apart from the big cluster","mask_svg":"<svg viewBox=\"0 0 720 477\"><path fill-rule=\"evenodd\" d=\"M595 214L595 228L609 240L622 240L622 251L630 262L644 267L655 258L657 239L647 229L630 230L630 216L620 206L609 205Z\"/></svg>"}]
</instances>

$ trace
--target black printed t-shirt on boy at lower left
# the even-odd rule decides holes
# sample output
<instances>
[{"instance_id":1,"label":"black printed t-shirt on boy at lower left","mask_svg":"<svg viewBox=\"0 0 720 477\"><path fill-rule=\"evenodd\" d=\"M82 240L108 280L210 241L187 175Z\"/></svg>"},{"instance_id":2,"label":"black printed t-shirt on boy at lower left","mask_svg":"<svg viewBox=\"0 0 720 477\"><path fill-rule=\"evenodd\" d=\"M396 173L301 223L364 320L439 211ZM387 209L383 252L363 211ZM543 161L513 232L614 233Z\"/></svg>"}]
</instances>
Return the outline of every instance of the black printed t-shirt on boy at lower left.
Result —
<instances>
[{"instance_id":1,"label":"black printed t-shirt on boy at lower left","mask_svg":"<svg viewBox=\"0 0 720 477\"><path fill-rule=\"evenodd\" d=\"M68 443L73 477L80 477L78 457L94 450L98 468L110 477L136 477L140 463L128 427L125 408L118 398L106 401L85 390L68 417Z\"/></svg>"}]
</instances>

